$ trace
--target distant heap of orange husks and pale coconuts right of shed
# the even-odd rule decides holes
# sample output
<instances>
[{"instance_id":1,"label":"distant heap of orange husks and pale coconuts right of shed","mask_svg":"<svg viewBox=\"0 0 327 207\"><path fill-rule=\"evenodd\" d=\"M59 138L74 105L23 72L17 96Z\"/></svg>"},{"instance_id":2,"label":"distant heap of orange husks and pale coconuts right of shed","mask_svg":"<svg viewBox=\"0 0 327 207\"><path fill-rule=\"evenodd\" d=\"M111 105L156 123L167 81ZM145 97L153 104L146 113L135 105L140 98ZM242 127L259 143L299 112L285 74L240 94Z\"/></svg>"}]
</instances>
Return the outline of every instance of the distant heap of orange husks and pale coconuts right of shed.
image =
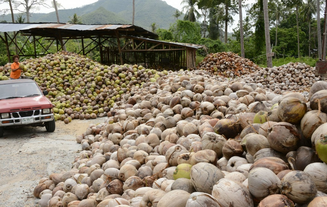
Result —
<instances>
[{"instance_id":1,"label":"distant heap of orange husks and pale coconuts right of shed","mask_svg":"<svg viewBox=\"0 0 327 207\"><path fill-rule=\"evenodd\" d=\"M220 80L236 79L256 83L259 87L279 94L285 90L309 91L312 84L321 79L320 76L315 76L315 67L306 63L290 62L272 68L262 68L232 52L208 54L199 63L197 70L200 73L218 76Z\"/></svg>"}]
</instances>

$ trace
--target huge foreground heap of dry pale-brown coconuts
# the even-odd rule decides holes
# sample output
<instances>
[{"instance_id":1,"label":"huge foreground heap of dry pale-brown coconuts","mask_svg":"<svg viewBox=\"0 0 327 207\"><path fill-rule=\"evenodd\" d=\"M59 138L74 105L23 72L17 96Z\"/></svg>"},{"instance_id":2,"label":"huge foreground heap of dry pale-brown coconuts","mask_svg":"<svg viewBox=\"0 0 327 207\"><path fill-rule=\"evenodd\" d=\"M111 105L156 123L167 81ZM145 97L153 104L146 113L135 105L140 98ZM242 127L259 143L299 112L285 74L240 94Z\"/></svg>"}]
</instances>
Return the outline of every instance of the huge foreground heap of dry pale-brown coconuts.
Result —
<instances>
[{"instance_id":1,"label":"huge foreground heap of dry pale-brown coconuts","mask_svg":"<svg viewBox=\"0 0 327 207\"><path fill-rule=\"evenodd\" d=\"M313 71L158 72L78 136L72 169L34 196L50 207L326 206L327 84Z\"/></svg>"}]
</instances>

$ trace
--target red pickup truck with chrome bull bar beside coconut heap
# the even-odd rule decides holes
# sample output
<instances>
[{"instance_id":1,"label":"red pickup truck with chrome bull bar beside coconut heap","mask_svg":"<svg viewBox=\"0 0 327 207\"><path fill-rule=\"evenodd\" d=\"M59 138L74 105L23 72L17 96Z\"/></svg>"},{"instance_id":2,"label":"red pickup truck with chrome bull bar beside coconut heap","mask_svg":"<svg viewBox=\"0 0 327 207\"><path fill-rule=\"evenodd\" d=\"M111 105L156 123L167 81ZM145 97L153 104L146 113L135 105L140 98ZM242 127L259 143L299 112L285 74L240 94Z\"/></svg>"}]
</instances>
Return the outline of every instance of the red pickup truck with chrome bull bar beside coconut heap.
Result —
<instances>
[{"instance_id":1,"label":"red pickup truck with chrome bull bar beside coconut heap","mask_svg":"<svg viewBox=\"0 0 327 207\"><path fill-rule=\"evenodd\" d=\"M21 126L45 126L55 131L52 103L34 80L0 81L0 137L5 129Z\"/></svg>"}]
</instances>

